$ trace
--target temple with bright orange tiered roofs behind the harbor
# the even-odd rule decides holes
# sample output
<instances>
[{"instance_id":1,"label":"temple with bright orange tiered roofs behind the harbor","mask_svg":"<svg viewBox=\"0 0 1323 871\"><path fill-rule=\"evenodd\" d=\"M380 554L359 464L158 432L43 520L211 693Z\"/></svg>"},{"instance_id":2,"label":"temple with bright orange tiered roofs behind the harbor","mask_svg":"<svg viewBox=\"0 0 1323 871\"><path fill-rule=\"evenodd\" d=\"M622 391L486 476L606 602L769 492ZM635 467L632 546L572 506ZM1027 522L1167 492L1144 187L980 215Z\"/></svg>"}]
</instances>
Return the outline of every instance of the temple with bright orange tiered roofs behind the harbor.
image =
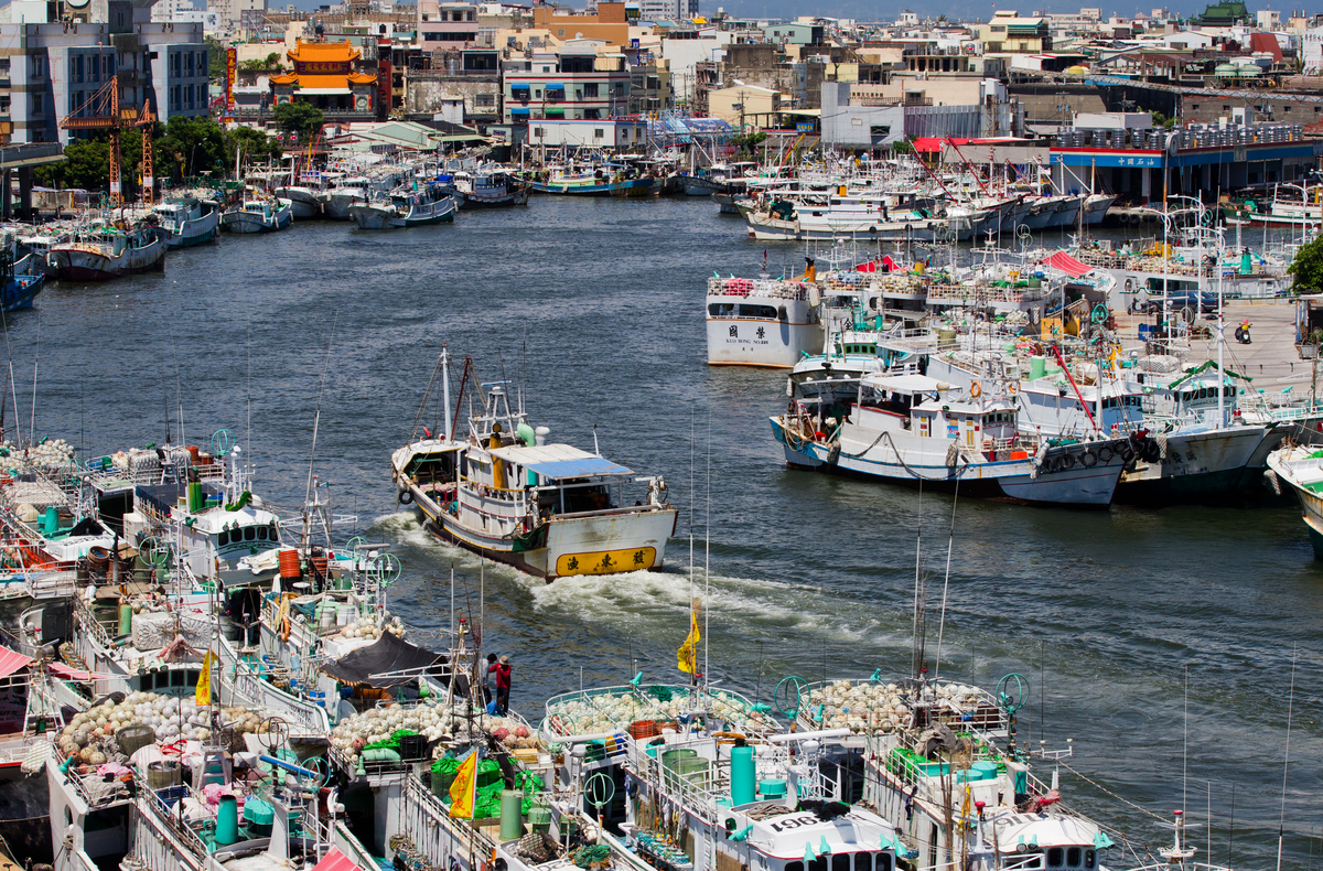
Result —
<instances>
[{"instance_id":1,"label":"temple with bright orange tiered roofs behind the harbor","mask_svg":"<svg viewBox=\"0 0 1323 871\"><path fill-rule=\"evenodd\" d=\"M320 109L327 120L376 118L377 75L356 71L363 53L345 42L304 42L287 53L292 73L271 77L271 105L299 102ZM386 70L389 74L389 70ZM389 87L389 79L386 82Z\"/></svg>"}]
</instances>

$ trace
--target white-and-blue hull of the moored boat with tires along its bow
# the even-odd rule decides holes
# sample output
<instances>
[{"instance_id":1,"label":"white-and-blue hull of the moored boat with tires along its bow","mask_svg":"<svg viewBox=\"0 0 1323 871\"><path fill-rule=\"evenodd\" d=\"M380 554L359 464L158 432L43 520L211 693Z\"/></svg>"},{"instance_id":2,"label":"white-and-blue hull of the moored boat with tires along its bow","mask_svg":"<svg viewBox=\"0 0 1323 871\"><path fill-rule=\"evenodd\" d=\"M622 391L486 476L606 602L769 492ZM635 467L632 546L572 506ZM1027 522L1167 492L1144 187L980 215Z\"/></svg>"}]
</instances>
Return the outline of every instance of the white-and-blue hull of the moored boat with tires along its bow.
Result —
<instances>
[{"instance_id":1,"label":"white-and-blue hull of the moored boat with tires along its bow","mask_svg":"<svg viewBox=\"0 0 1323 871\"><path fill-rule=\"evenodd\" d=\"M845 447L833 451L819 442L787 434L781 418L771 420L771 429L785 449L786 465L791 467L865 481L888 481L909 487L922 484L951 492L959 490L960 494L982 499L1106 508L1111 504L1122 473L1122 463L1117 455L1107 462L1095 462L1088 469L1073 463L1070 469L1054 471L1045 469L1035 471L1028 458L949 466L945 462L934 462L930 457L901 457L894 449L873 450L878 443L876 441L857 455ZM894 446L894 442L890 443ZM1050 463L1050 458L1052 454L1044 462L1044 467Z\"/></svg>"}]
</instances>

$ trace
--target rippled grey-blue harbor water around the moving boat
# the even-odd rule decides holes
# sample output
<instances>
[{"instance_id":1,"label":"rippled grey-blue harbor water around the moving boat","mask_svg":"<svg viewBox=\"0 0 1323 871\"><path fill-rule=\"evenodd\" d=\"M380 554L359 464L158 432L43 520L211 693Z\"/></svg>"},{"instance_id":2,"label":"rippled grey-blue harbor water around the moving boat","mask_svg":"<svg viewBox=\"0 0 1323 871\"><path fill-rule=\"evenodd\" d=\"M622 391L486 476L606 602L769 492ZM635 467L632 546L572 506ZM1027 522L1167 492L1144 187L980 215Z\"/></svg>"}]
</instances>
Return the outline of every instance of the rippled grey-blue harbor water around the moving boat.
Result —
<instances>
[{"instance_id":1,"label":"rippled grey-blue harbor water around the moving boat","mask_svg":"<svg viewBox=\"0 0 1323 871\"><path fill-rule=\"evenodd\" d=\"M906 672L918 535L935 667L951 498L787 470L767 425L783 376L704 363L705 278L751 274L763 250L773 271L802 262L701 200L538 199L452 226L229 237L171 254L164 274L53 285L17 314L19 422L97 454L163 441L181 406L189 439L230 428L258 488L296 506L325 371L316 471L357 531L398 543L393 608L445 643L451 569L462 606L482 589L488 646L512 654L513 702L533 719L581 682L681 678L691 528L726 686L767 700L790 674ZM398 510L388 457L442 342L482 380L527 379L533 422L556 438L587 447L595 425L605 455L667 477L681 507L667 571L548 586L480 569ZM1184 802L1204 821L1211 789L1213 859L1230 846L1237 867L1274 864L1298 651L1283 864L1319 863L1320 650L1323 568L1294 508L957 506L942 674L987 687L1025 674L1021 737L1073 739L1068 762L1089 780L1062 769L1064 792L1140 855L1168 839L1154 814Z\"/></svg>"}]
</instances>

